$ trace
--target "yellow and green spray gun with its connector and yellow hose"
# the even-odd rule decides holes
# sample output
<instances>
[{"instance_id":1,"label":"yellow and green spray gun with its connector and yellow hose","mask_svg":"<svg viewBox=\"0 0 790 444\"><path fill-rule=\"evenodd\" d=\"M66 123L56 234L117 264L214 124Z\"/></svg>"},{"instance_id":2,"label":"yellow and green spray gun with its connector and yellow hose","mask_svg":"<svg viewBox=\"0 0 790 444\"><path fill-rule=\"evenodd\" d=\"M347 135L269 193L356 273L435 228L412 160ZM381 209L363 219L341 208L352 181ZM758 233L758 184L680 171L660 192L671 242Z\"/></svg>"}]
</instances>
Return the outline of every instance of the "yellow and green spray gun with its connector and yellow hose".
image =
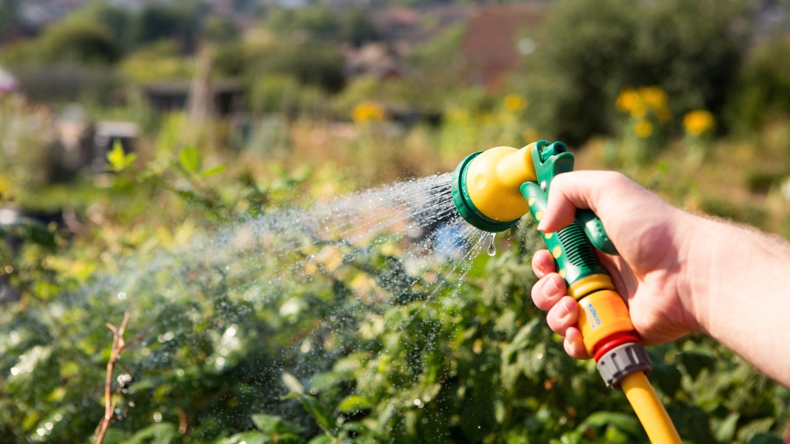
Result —
<instances>
[{"instance_id":1,"label":"yellow and green spray gun with its connector and yellow hose","mask_svg":"<svg viewBox=\"0 0 790 444\"><path fill-rule=\"evenodd\" d=\"M574 155L562 142L537 141L522 149L499 146L461 160L451 189L459 214L483 231L504 231L528 211L540 221L551 180L573 171ZM680 443L664 406L647 380L652 364L595 248L617 254L604 225L589 209L572 224L542 233L568 294L579 305L578 327L585 349L607 386L622 389L654 443Z\"/></svg>"}]
</instances>

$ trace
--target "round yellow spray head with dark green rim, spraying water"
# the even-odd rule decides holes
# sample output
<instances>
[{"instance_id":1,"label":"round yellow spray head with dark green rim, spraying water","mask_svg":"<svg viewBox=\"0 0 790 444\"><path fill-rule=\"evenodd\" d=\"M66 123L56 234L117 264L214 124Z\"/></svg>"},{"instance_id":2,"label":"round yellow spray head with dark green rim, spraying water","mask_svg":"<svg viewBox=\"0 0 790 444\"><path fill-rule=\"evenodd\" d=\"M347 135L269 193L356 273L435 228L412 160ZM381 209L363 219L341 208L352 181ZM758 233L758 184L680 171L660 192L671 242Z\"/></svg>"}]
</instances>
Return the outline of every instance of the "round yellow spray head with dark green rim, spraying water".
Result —
<instances>
[{"instance_id":1,"label":"round yellow spray head with dark green rim, spraying water","mask_svg":"<svg viewBox=\"0 0 790 444\"><path fill-rule=\"evenodd\" d=\"M483 231L504 231L529 211L519 187L537 180L533 145L498 146L461 160L451 188L456 209L469 224Z\"/></svg>"}]
</instances>

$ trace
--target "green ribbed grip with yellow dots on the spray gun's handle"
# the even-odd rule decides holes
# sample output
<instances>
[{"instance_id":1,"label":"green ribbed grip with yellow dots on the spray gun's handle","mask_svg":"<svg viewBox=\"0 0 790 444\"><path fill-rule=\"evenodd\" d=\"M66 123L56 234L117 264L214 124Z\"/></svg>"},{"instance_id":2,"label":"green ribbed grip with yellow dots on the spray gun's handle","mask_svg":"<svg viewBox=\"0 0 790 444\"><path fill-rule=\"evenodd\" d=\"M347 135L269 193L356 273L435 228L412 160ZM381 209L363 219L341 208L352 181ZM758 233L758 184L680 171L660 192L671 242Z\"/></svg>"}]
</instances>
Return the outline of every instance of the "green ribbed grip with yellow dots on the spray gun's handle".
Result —
<instances>
[{"instance_id":1,"label":"green ribbed grip with yellow dots on the spray gun's handle","mask_svg":"<svg viewBox=\"0 0 790 444\"><path fill-rule=\"evenodd\" d=\"M547 198L540 185L525 182L520 188L521 195L527 199L529 211L536 220L540 220L546 212ZM557 262L557 271L570 287L577 280L593 274L607 274L603 265L596 257L595 249L585 233L581 220L555 233L541 233L544 243Z\"/></svg>"}]
</instances>

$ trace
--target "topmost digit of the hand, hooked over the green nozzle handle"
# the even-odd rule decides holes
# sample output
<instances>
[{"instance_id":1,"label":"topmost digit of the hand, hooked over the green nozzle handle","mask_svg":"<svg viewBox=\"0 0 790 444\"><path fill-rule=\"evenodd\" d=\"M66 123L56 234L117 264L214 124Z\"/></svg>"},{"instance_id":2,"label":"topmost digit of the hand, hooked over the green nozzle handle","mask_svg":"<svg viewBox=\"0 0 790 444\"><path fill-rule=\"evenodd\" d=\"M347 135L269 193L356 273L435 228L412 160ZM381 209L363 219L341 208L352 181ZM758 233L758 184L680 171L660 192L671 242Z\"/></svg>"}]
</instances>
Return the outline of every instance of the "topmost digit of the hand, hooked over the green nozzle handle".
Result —
<instances>
[{"instance_id":1,"label":"topmost digit of the hand, hooked over the green nozzle handle","mask_svg":"<svg viewBox=\"0 0 790 444\"><path fill-rule=\"evenodd\" d=\"M571 171L551 180L551 191L544 218L538 229L544 232L559 231L573 222L576 209L592 209L602 216L601 199L611 190L627 184L635 185L626 176L614 171Z\"/></svg>"}]
</instances>

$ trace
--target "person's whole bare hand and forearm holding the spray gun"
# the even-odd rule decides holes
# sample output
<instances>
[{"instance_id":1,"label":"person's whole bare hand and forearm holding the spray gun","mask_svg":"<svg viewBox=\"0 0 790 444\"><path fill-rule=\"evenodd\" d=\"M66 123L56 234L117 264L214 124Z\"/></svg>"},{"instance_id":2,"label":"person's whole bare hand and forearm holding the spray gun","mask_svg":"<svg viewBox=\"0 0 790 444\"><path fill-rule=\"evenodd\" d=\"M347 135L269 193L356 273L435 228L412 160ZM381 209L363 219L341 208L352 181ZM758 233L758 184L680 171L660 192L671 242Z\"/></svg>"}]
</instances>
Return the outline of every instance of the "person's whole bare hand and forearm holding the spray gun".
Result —
<instances>
[{"instance_id":1,"label":"person's whole bare hand and forearm holding the spray gun","mask_svg":"<svg viewBox=\"0 0 790 444\"><path fill-rule=\"evenodd\" d=\"M721 220L676 209L612 171L573 171L551 182L538 229L554 232L592 209L619 256L598 252L626 299L645 345L690 332L713 337L790 386L790 244ZM587 359L578 306L566 295L547 250L532 257L532 300L565 337L570 356Z\"/></svg>"}]
</instances>

